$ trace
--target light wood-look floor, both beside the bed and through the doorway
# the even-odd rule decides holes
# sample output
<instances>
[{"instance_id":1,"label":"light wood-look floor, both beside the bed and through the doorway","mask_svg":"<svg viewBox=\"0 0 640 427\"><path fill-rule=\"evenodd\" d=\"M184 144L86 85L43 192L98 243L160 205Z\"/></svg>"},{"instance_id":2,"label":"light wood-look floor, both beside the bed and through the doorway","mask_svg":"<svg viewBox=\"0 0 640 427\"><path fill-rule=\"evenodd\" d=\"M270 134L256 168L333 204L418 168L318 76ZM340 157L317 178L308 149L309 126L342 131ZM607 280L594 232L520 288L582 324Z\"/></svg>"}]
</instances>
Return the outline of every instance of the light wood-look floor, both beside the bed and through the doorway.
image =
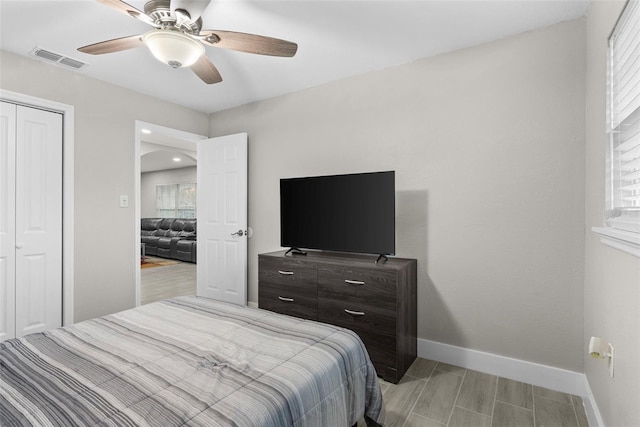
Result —
<instances>
[{"instance_id":1,"label":"light wood-look floor, both beside the bed and through the doorway","mask_svg":"<svg viewBox=\"0 0 640 427\"><path fill-rule=\"evenodd\" d=\"M195 295L196 265L142 269L147 304ZM588 427L582 399L418 358L399 384L380 380L388 427ZM364 427L364 421L358 427Z\"/></svg>"}]
</instances>

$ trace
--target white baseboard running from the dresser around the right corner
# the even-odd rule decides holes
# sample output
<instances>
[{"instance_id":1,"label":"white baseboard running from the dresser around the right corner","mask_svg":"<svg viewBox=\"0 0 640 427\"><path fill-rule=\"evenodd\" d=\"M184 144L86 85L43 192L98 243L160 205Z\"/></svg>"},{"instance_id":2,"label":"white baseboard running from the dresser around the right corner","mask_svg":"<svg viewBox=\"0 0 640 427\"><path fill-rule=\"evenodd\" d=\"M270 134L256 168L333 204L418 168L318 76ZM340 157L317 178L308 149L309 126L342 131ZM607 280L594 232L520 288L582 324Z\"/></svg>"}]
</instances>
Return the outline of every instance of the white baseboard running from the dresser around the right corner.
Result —
<instances>
[{"instance_id":1,"label":"white baseboard running from the dresser around the right corner","mask_svg":"<svg viewBox=\"0 0 640 427\"><path fill-rule=\"evenodd\" d=\"M587 377L580 372L418 338L418 357L449 363L583 398L592 427L604 426Z\"/></svg>"}]
</instances>

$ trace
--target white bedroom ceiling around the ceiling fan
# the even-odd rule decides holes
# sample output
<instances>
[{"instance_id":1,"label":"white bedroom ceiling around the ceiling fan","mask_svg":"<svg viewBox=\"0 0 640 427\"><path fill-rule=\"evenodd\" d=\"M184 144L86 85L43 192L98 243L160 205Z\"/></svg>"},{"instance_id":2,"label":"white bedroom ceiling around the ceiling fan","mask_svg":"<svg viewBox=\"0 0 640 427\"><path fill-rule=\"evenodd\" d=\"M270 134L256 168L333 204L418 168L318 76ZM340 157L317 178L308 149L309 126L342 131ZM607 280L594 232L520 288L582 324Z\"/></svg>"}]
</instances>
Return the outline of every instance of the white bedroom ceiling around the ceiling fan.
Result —
<instances>
[{"instance_id":1,"label":"white bedroom ceiling around the ceiling fan","mask_svg":"<svg viewBox=\"0 0 640 427\"><path fill-rule=\"evenodd\" d=\"M144 9L144 1L129 4ZM589 0L213 0L202 15L204 29L256 33L299 46L293 58L208 46L206 54L224 79L214 85L158 62L146 47L101 56L78 52L80 46L151 29L92 0L0 0L0 47L25 56L35 47L47 49L87 62L78 73L210 113L574 19L588 5Z\"/></svg>"}]
</instances>

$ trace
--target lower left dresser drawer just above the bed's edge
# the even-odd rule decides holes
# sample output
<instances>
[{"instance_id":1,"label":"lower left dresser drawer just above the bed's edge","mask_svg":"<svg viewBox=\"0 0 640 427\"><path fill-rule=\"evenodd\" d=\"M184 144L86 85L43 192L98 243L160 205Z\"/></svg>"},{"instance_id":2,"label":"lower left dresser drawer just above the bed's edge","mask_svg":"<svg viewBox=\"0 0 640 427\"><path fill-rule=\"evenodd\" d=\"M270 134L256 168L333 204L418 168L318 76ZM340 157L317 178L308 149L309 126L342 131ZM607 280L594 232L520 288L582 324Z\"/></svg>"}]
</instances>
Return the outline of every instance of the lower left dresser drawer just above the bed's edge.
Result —
<instances>
[{"instance_id":1,"label":"lower left dresser drawer just above the bed's edge","mask_svg":"<svg viewBox=\"0 0 640 427\"><path fill-rule=\"evenodd\" d=\"M317 320L318 297L315 288L259 282L258 306L276 313Z\"/></svg>"}]
</instances>

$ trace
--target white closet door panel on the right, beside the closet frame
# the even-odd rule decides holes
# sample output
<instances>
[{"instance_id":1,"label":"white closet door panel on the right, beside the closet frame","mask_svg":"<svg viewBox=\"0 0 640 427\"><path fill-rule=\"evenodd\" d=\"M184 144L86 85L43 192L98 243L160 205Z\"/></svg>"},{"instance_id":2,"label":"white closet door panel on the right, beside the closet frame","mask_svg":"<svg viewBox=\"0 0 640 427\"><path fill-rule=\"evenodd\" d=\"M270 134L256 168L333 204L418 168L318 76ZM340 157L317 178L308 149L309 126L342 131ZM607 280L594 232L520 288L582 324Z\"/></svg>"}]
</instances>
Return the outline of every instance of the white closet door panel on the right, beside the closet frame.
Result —
<instances>
[{"instance_id":1,"label":"white closet door panel on the right, beside the closet frame","mask_svg":"<svg viewBox=\"0 0 640 427\"><path fill-rule=\"evenodd\" d=\"M62 325L62 114L17 107L16 336Z\"/></svg>"}]
</instances>

